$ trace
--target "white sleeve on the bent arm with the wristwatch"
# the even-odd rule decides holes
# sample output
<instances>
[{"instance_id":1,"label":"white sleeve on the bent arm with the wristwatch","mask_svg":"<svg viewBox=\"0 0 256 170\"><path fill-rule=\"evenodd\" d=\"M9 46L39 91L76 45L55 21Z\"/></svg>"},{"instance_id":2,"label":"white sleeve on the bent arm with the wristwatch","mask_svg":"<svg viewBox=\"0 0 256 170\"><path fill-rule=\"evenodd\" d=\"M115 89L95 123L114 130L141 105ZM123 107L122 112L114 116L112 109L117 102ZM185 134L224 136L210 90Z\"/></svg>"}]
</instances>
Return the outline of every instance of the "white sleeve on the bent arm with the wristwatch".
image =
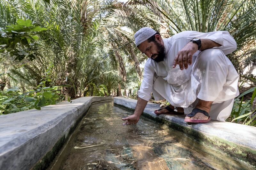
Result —
<instances>
[{"instance_id":1,"label":"white sleeve on the bent arm with the wristwatch","mask_svg":"<svg viewBox=\"0 0 256 170\"><path fill-rule=\"evenodd\" d=\"M220 49L225 55L232 53L236 50L236 41L228 33L228 31L214 31L209 33L200 33L196 31L189 32L189 39L198 37L200 39L209 39L220 44L220 47L213 47Z\"/></svg>"}]
</instances>

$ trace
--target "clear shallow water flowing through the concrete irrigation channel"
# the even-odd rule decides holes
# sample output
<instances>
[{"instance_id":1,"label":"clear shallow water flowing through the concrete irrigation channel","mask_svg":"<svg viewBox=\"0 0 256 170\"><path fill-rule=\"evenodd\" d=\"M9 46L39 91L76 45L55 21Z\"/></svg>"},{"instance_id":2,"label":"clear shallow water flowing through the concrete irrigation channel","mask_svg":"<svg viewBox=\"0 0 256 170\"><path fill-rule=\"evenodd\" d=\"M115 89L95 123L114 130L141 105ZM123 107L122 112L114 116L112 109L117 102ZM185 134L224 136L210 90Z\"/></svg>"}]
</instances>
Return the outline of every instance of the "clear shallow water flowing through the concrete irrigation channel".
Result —
<instances>
[{"instance_id":1,"label":"clear shallow water flowing through the concrete irrigation channel","mask_svg":"<svg viewBox=\"0 0 256 170\"><path fill-rule=\"evenodd\" d=\"M51 169L253 169L147 118L121 125L131 114L113 101L92 104Z\"/></svg>"}]
</instances>

